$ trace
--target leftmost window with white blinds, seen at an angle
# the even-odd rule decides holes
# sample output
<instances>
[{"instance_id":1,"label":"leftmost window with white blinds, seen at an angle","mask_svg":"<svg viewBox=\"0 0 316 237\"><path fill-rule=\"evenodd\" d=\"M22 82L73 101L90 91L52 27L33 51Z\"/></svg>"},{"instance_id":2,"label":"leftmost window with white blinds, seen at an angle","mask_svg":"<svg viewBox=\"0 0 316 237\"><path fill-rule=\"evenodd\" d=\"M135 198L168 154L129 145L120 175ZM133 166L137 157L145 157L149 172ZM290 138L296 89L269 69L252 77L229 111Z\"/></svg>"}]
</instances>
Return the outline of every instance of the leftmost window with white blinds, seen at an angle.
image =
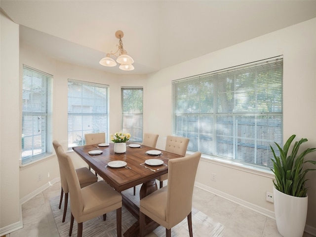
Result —
<instances>
[{"instance_id":1,"label":"leftmost window with white blinds, seen at an angle","mask_svg":"<svg viewBox=\"0 0 316 237\"><path fill-rule=\"evenodd\" d=\"M22 77L22 164L26 164L52 153L52 76L23 65Z\"/></svg>"}]
</instances>

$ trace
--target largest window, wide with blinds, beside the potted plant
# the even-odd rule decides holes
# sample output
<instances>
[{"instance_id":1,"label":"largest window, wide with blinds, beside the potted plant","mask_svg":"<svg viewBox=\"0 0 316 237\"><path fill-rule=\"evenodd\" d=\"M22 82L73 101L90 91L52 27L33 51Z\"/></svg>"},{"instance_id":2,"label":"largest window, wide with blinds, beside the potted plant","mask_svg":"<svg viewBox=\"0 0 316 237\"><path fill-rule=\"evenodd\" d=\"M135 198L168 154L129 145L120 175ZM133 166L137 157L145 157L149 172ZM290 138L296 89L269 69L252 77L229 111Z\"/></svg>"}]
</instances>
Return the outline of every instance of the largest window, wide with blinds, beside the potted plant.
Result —
<instances>
[{"instance_id":1,"label":"largest window, wide with blinds, beside the potted plant","mask_svg":"<svg viewBox=\"0 0 316 237\"><path fill-rule=\"evenodd\" d=\"M172 82L172 132L188 150L272 167L282 144L283 59L276 57Z\"/></svg>"}]
</instances>

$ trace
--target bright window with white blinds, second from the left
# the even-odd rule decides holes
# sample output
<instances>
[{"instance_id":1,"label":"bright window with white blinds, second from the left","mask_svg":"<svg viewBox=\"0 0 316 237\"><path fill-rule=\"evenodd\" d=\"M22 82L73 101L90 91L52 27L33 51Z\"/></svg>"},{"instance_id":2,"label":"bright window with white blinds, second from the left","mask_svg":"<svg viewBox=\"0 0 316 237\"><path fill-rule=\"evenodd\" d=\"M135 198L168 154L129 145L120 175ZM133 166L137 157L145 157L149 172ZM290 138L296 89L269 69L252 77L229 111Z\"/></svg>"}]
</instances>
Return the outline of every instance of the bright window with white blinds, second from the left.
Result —
<instances>
[{"instance_id":1,"label":"bright window with white blinds, second from the left","mask_svg":"<svg viewBox=\"0 0 316 237\"><path fill-rule=\"evenodd\" d=\"M108 85L68 79L68 147L85 145L85 133L108 134L108 94Z\"/></svg>"}]
</instances>

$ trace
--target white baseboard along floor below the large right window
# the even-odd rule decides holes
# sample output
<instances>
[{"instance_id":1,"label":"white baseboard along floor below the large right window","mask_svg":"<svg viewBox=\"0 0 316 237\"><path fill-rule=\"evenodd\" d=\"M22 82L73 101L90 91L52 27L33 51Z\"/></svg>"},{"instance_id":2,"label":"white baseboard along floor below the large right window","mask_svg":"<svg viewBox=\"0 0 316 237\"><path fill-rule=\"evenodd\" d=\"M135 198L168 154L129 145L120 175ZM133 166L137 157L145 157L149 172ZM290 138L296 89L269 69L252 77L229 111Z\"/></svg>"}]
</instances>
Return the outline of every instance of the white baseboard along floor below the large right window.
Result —
<instances>
[{"instance_id":1,"label":"white baseboard along floor below the large right window","mask_svg":"<svg viewBox=\"0 0 316 237\"><path fill-rule=\"evenodd\" d=\"M254 205L254 204L252 204L250 202L244 201L244 200L239 199L237 197L234 197L232 195L223 193L221 191L218 191L216 189L213 189L211 187L208 187L208 186L206 186L204 184L201 184L201 183L198 183L198 182L195 182L195 186L197 186L198 188L200 188L202 190L205 190L205 191L207 191L207 192L209 192L211 194L214 194L216 196L223 197L223 198L225 198L227 200L230 200L230 201L232 201L232 202L234 202L234 203L236 203L236 204L238 204L240 206L244 206L244 207L246 207L246 208L248 208L250 210L253 210L253 211L255 211L255 212L259 213L259 214L262 214L262 215L264 215L266 217L269 217L269 218L274 219L274 220L276 219L274 211L267 210L265 208L262 208L260 206ZM304 231L306 233L316 237L316 228L314 228L312 226L309 226L309 225L306 225Z\"/></svg>"}]
</instances>

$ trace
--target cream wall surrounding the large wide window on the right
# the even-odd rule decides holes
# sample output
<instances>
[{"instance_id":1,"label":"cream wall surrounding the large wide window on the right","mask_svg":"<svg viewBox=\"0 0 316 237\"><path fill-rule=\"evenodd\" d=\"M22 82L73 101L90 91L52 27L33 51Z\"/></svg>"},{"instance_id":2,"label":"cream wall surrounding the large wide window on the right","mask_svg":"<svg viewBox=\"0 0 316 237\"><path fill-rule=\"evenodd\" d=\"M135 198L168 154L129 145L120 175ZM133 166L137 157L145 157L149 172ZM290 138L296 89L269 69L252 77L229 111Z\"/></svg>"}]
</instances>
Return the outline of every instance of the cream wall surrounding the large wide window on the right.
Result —
<instances>
[{"instance_id":1,"label":"cream wall surrounding the large wide window on the right","mask_svg":"<svg viewBox=\"0 0 316 237\"><path fill-rule=\"evenodd\" d=\"M210 42L211 43L211 42ZM183 49L185 50L185 49ZM164 148L171 133L171 81L225 69L244 63L283 55L283 135L308 138L306 146L316 147L316 18L267 34L202 57L160 70L149 76L145 110L145 130L158 133L157 147ZM310 158L316 157L316 154ZM201 159L196 181L205 189L273 211L265 200L272 192L272 175L236 169L209 159ZM217 181L211 181L211 173ZM307 225L316 231L316 172L310 173ZM264 209L262 211L264 211ZM316 233L316 232L315 232Z\"/></svg>"}]
</instances>

